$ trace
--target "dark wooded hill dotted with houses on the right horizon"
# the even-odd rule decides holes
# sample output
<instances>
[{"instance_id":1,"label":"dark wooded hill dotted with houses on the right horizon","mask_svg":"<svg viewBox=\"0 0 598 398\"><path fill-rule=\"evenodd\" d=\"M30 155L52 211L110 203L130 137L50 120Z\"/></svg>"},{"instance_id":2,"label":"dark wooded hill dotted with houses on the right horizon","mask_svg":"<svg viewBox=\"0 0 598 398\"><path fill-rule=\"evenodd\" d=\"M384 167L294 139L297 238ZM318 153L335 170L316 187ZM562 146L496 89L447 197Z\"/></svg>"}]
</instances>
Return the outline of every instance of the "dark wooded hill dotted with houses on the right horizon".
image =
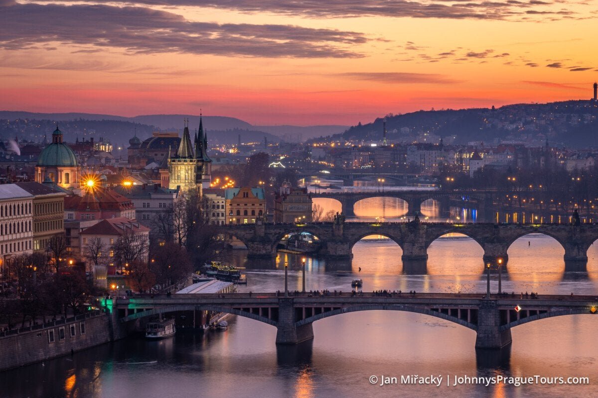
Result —
<instances>
[{"instance_id":1,"label":"dark wooded hill dotted with houses on the right horizon","mask_svg":"<svg viewBox=\"0 0 598 398\"><path fill-rule=\"evenodd\" d=\"M512 104L496 109L420 110L358 124L337 137L381 140L384 121L390 141L419 134L455 136L458 144L504 138L529 141L544 136L553 144L598 147L598 103L587 100Z\"/></svg>"}]
</instances>

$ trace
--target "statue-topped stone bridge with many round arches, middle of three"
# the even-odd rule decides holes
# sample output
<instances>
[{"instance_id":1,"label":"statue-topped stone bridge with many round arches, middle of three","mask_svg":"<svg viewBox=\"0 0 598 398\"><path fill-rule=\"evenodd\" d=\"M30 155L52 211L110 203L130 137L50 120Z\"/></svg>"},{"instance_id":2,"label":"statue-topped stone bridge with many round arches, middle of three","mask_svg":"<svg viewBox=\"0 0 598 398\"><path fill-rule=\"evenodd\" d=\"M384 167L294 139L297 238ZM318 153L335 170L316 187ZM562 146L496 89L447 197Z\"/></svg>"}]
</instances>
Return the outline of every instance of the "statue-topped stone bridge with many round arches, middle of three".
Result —
<instances>
[{"instance_id":1,"label":"statue-topped stone bridge with many round arches, middle of three","mask_svg":"<svg viewBox=\"0 0 598 398\"><path fill-rule=\"evenodd\" d=\"M484 264L506 266L508 248L530 233L553 237L565 249L566 270L585 270L587 250L598 239L598 226L592 224L451 224L451 223L310 223L310 224L236 224L219 227L226 237L237 237L249 249L249 257L276 256L280 240L290 233L307 232L319 239L319 255L350 258L355 243L368 235L386 236L402 249L402 260L425 261L434 240L448 233L471 237L484 250Z\"/></svg>"}]
</instances>

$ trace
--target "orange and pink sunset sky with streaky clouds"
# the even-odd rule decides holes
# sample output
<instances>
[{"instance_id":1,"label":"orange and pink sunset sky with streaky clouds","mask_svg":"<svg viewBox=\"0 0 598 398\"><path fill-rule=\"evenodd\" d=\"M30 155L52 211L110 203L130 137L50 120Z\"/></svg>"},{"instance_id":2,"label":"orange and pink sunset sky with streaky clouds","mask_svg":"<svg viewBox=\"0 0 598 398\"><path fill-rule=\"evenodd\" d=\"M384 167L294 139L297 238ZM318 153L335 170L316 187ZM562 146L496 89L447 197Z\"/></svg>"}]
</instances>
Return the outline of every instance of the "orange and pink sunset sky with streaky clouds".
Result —
<instances>
[{"instance_id":1,"label":"orange and pink sunset sky with streaky clouds","mask_svg":"<svg viewBox=\"0 0 598 398\"><path fill-rule=\"evenodd\" d=\"M0 0L0 109L354 125L589 99L598 0Z\"/></svg>"}]
</instances>

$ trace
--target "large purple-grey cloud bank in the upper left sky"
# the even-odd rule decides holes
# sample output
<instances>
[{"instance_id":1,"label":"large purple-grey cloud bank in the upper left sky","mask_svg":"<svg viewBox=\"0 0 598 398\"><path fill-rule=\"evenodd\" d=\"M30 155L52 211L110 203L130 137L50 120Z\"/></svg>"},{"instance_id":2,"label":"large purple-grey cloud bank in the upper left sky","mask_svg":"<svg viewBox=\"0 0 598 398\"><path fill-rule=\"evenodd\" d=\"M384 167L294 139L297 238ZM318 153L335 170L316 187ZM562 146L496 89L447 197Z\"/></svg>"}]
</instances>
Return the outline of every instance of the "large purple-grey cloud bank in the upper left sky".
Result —
<instances>
[{"instance_id":1,"label":"large purple-grey cloud bank in the upper left sky","mask_svg":"<svg viewBox=\"0 0 598 398\"><path fill-rule=\"evenodd\" d=\"M5 0L0 0L5 1ZM13 4L2 8L0 48L42 43L119 48L129 54L352 58L362 33L275 24L196 22L167 11L112 5Z\"/></svg>"}]
</instances>

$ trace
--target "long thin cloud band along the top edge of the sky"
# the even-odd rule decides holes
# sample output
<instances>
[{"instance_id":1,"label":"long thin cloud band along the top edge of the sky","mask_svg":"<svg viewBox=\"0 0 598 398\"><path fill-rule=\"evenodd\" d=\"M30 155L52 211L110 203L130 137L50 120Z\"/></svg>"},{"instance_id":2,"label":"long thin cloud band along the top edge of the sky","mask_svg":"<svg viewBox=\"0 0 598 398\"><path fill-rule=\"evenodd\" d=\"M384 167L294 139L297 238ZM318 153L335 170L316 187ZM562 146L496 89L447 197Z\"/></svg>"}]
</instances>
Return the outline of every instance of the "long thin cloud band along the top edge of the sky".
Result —
<instances>
[{"instance_id":1,"label":"long thin cloud band along the top edge of the sky","mask_svg":"<svg viewBox=\"0 0 598 398\"><path fill-rule=\"evenodd\" d=\"M7 0L0 0L7 1ZM75 2L78 0L66 0ZM91 1L91 0L90 0ZM112 0L97 0L112 4ZM559 16L573 14L563 10L562 5L552 2L510 0L507 2L486 0L136 0L136 4L164 5L170 7L209 7L235 10L241 13L274 13L313 18L349 17L411 17L449 18L479 20L523 20L530 14ZM444 4L450 2L452 4ZM522 10L535 8L539 10ZM533 11L529 13L528 11ZM526 17L527 15L527 17Z\"/></svg>"}]
</instances>

